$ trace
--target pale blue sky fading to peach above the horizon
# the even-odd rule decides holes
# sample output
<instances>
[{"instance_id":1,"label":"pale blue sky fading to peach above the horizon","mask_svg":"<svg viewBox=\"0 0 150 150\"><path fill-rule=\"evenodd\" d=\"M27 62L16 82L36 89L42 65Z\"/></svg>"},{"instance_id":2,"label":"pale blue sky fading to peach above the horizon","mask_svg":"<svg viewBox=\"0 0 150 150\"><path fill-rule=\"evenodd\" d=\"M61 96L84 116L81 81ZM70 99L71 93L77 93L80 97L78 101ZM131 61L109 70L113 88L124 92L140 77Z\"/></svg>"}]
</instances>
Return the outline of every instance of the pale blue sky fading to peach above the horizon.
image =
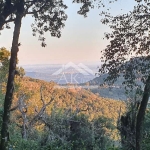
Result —
<instances>
[{"instance_id":1,"label":"pale blue sky fading to peach above the horizon","mask_svg":"<svg viewBox=\"0 0 150 150\"><path fill-rule=\"evenodd\" d=\"M99 13L101 9L91 9L88 17L77 14L80 4L72 4L72 0L64 0L68 6L66 13L68 19L62 29L61 38L51 37L46 33L45 48L41 47L38 37L32 36L31 24L33 18L27 16L23 19L19 47L19 65L33 64L66 64L74 63L99 63L101 51L109 44L103 40L104 32L110 31L109 27L102 25ZM104 4L108 6L108 2ZM118 0L111 4L111 13L117 15L133 9L134 0ZM121 10L122 9L122 10ZM11 49L13 24L11 29L4 30L0 35L0 47Z\"/></svg>"}]
</instances>

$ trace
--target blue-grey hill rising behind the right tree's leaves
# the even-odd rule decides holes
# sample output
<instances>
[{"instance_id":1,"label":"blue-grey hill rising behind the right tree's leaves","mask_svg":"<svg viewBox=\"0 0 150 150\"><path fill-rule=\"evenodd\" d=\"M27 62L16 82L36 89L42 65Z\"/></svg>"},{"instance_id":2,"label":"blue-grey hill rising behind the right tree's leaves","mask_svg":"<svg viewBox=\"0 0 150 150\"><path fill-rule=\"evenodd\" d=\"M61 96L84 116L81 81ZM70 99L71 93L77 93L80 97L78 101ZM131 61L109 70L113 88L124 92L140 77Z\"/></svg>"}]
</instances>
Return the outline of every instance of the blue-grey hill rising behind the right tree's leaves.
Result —
<instances>
[{"instance_id":1,"label":"blue-grey hill rising behind the right tree's leaves","mask_svg":"<svg viewBox=\"0 0 150 150\"><path fill-rule=\"evenodd\" d=\"M147 67L146 71L149 72L149 66L150 66L149 58L135 57L132 58L130 61L127 61L124 64L122 64L120 67L122 71L124 71L124 69L127 68L129 71L137 70L137 72L139 72L140 70L143 69L143 66ZM131 75L130 72L128 72L128 76L129 75ZM141 82L141 77L143 76L143 72L140 74L134 72L134 75L136 78L136 83L142 86L143 84ZM107 76L108 74L101 75L86 83L83 83L82 85L88 85L89 87L87 88L90 88L90 86L95 86L95 88L90 88L91 92L98 93L102 97L118 99L118 100L126 100L127 96L125 94L125 88L122 85L122 83L124 82L123 75L121 74L120 77L112 86L100 87L100 85L104 83L104 79L107 78Z\"/></svg>"}]
</instances>

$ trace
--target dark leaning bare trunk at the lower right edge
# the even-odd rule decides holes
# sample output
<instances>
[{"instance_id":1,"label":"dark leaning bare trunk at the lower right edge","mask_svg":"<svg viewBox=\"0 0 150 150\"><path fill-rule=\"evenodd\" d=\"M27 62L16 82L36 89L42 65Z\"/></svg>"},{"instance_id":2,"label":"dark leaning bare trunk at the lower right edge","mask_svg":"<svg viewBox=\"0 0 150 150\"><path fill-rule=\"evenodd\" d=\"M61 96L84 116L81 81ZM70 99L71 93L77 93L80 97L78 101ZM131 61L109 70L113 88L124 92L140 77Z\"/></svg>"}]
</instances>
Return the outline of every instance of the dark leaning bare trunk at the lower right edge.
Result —
<instances>
[{"instance_id":1,"label":"dark leaning bare trunk at the lower right edge","mask_svg":"<svg viewBox=\"0 0 150 150\"><path fill-rule=\"evenodd\" d=\"M145 117L145 111L147 107L147 103L150 96L150 76L146 80L146 85L144 88L143 98L140 104L140 108L137 114L136 121L136 150L141 150L141 142L142 142L142 125Z\"/></svg>"}]
</instances>

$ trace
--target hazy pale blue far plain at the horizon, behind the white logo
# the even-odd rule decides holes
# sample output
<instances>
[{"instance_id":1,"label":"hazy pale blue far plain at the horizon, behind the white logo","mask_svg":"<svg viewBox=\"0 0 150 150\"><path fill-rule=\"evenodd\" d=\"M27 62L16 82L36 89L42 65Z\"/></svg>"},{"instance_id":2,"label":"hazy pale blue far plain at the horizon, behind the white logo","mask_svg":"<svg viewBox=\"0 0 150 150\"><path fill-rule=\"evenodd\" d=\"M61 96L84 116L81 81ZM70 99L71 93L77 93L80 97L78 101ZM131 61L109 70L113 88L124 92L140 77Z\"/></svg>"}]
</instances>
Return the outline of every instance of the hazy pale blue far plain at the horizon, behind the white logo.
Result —
<instances>
[{"instance_id":1,"label":"hazy pale blue far plain at the horizon, behind the white logo","mask_svg":"<svg viewBox=\"0 0 150 150\"><path fill-rule=\"evenodd\" d=\"M97 68L95 65L74 64L66 65L29 65L24 67L26 76L57 84L80 84L92 80Z\"/></svg>"}]
</instances>

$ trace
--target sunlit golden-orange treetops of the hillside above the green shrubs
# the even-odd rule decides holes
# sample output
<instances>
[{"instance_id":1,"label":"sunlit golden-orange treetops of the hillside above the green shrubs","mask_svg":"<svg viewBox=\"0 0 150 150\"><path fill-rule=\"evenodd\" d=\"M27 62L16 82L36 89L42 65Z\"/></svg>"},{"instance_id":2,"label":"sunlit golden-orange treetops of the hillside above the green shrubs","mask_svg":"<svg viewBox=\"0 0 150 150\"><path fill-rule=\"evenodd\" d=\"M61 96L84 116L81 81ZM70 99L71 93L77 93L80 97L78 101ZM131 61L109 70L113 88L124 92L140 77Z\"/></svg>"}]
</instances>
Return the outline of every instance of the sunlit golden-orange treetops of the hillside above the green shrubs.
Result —
<instances>
[{"instance_id":1,"label":"sunlit golden-orange treetops of the hillside above the green shrubs","mask_svg":"<svg viewBox=\"0 0 150 150\"><path fill-rule=\"evenodd\" d=\"M51 105L46 109L48 113L51 112L51 109L54 106L61 109L70 109L72 111L75 111L78 108L84 110L84 114L90 115L91 119L105 116L117 120L120 107L124 110L123 102L99 97L98 95L79 87L62 88L54 82L46 82L31 79L29 77L24 77L18 82L20 87L14 95L12 107L17 105L20 94L26 94L29 115L35 113L35 107L40 109L42 105L40 100L41 86L43 87L42 94L44 101L48 102L50 99L54 99Z\"/></svg>"}]
</instances>

